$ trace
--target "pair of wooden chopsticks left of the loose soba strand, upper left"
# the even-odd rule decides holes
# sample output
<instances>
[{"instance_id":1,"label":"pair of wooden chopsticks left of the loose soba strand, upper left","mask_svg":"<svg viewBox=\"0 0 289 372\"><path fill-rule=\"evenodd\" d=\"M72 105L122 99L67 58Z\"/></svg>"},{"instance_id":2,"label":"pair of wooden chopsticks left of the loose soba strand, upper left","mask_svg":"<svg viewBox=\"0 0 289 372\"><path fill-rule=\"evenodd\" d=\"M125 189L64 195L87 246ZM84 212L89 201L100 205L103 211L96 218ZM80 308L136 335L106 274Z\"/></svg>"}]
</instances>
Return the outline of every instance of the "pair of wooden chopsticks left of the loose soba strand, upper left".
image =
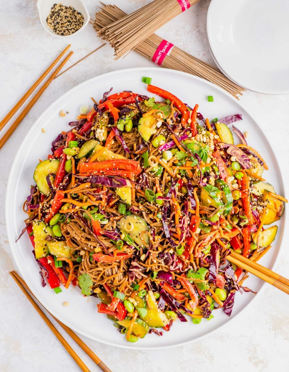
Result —
<instances>
[{"instance_id":1,"label":"pair of wooden chopsticks left of the loose soba strand, upper left","mask_svg":"<svg viewBox=\"0 0 289 372\"><path fill-rule=\"evenodd\" d=\"M7 113L5 118L0 122L0 130L4 127L4 125L7 124L7 122L12 118L14 113L23 105L23 103L26 101L26 99L34 92L34 90L39 86L42 80L49 74L49 72L52 70L52 68L56 65L56 63L64 56L64 54L68 51L68 49L71 47L69 44L60 54L59 56L52 62L52 64L47 68L47 70L35 81L35 83L27 90L27 92L24 94L23 97L20 98L20 100L16 103L16 105ZM70 52L67 57L59 64L59 66L53 71L53 73L49 76L49 78L45 81L45 83L40 87L38 92L35 94L35 96L32 97L28 105L22 110L20 115L17 117L17 119L13 122L13 124L10 126L10 128L7 130L7 132L3 135L3 137L0 139L0 149L3 147L3 145L6 143L6 141L9 139L9 137L12 135L14 130L17 128L17 126L20 124L20 122L25 118L27 113L30 111L30 109L33 107L35 102L40 98L42 93L46 90L46 88L49 86L49 84L52 82L52 80L56 77L56 75L59 73L59 71L62 69L62 67L66 64L66 62L69 60L69 58L72 56L73 52Z\"/></svg>"}]
</instances>

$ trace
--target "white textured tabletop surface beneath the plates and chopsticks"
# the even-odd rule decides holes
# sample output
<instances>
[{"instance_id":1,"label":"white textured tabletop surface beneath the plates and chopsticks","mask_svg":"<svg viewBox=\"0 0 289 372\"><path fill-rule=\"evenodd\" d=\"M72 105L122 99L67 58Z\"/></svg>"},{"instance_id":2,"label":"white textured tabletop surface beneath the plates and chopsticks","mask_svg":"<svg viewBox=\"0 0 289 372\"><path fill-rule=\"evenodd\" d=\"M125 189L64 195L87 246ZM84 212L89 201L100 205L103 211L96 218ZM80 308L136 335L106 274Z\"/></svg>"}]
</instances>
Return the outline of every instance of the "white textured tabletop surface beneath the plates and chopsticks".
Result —
<instances>
[{"instance_id":1,"label":"white textured tabletop surface beneath the plates and chopsticks","mask_svg":"<svg viewBox=\"0 0 289 372\"><path fill-rule=\"evenodd\" d=\"M104 2L110 3L108 0ZM147 2L149 1L114 1L127 13ZM85 0L85 3L93 18L98 1ZM209 3L210 0L201 0L188 12L164 26L158 34L195 57L212 64L205 39L205 19ZM71 50L74 51L68 65L101 45L91 25L67 41L48 35L40 25L35 0L1 1L0 118L68 43L72 44ZM58 372L64 369L79 371L9 276L9 271L14 269L14 264L6 234L4 197L9 170L17 147L26 134L27 128L30 128L40 113L75 85L108 71L150 65L152 62L134 52L125 59L113 61L112 49L108 45L105 46L53 81L1 150L0 372ZM265 96L246 92L241 102L256 118L275 150L283 171L288 197L288 95ZM287 277L289 276L288 238L289 232L285 232L283 252L276 267L277 272ZM259 300L247 308L240 317L199 343L171 350L146 352L117 349L84 337L82 339L113 372L138 370L191 372L213 369L234 372L287 372L289 371L288 309L288 296L266 285ZM71 345L90 366L91 371L99 370L74 341L71 341Z\"/></svg>"}]
</instances>

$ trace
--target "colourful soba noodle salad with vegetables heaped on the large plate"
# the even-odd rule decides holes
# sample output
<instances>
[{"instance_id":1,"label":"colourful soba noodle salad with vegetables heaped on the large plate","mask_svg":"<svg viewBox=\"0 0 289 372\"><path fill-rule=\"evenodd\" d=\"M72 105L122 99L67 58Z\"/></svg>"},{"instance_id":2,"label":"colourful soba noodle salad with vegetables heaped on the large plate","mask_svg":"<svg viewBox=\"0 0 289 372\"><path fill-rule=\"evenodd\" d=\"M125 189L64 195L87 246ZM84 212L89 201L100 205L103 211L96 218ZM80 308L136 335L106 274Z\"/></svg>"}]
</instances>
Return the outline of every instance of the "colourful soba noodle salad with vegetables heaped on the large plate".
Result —
<instances>
[{"instance_id":1,"label":"colourful soba noodle salad with vegetables heaped on the large plate","mask_svg":"<svg viewBox=\"0 0 289 372\"><path fill-rule=\"evenodd\" d=\"M241 114L205 119L144 81L149 96L111 89L68 123L23 205L42 285L97 297L130 342L230 316L236 291L251 290L226 256L259 260L286 201L234 126Z\"/></svg>"}]
</instances>

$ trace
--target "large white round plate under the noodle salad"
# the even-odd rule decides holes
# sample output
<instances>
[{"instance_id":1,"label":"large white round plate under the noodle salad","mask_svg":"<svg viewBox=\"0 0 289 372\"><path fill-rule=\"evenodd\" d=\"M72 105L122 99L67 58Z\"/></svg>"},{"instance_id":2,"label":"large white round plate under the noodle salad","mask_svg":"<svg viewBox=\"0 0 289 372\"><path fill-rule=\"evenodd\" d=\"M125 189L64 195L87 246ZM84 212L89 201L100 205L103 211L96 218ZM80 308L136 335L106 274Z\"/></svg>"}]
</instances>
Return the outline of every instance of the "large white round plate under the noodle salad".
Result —
<instances>
[{"instance_id":1,"label":"large white round plate under the noodle salad","mask_svg":"<svg viewBox=\"0 0 289 372\"><path fill-rule=\"evenodd\" d=\"M275 186L277 193L281 195L284 193L281 173L272 148L254 119L236 99L208 81L186 73L164 68L131 68L85 81L69 90L42 113L27 133L14 159L7 185L6 224L11 250L20 274L42 305L56 318L74 331L105 344L131 349L165 349L197 340L218 329L236 317L254 299L254 295L251 293L237 294L231 317L225 315L222 310L218 310L214 312L215 317L211 321L203 320L199 325L193 324L191 319L188 319L188 323L176 321L171 331L164 332L162 337L151 334L137 343L128 343L105 315L98 314L96 306L98 300L95 297L84 297L79 288L72 286L68 290L63 288L63 291L57 295L48 285L42 288L39 268L32 254L29 237L24 234L15 243L24 226L23 219L26 216L22 211L22 204L29 195L30 185L34 184L35 166L39 158L45 159L50 153L52 140L59 132L69 128L68 122L74 121L79 115L79 106L92 105L90 97L99 100L103 92L109 90L110 87L114 88L115 93L132 90L147 94L146 85L142 83L142 76L152 77L153 84L171 91L191 106L198 103L200 112L210 120L241 113L243 121L236 123L236 126L241 131L250 132L249 144L264 156L269 166L270 171L266 172L268 173L265 176L266 179ZM208 102L208 95L214 96L214 102ZM68 111L69 114L66 117L60 117L60 110ZM45 129L44 134L41 128ZM276 262L280 251L284 222L284 217L278 222L279 231L273 248L262 259L262 264L270 269ZM246 285L254 291L260 291L263 282L251 275ZM66 301L67 307L62 305ZM34 313L31 315L37 316Z\"/></svg>"}]
</instances>

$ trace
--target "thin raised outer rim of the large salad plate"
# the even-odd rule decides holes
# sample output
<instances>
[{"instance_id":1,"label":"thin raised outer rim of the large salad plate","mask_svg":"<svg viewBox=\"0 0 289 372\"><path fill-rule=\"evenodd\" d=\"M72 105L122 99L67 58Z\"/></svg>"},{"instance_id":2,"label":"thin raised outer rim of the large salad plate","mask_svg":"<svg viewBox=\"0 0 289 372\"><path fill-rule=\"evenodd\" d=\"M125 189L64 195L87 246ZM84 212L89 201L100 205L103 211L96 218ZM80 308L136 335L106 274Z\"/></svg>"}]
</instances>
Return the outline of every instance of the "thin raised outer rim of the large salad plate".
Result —
<instances>
[{"instance_id":1,"label":"thin raised outer rim of the large salad plate","mask_svg":"<svg viewBox=\"0 0 289 372\"><path fill-rule=\"evenodd\" d=\"M110 77L110 76L113 76L114 74L123 74L123 73L127 73L127 72L130 72L130 71L143 71L143 70L152 70L152 71L158 71L159 70L159 67L132 67L132 68L125 68L125 69L121 69L121 70L114 70L114 71L110 71L108 73L104 73L104 74L100 74L100 75L97 75L97 76L94 76L88 80L85 80L83 81L82 83L78 84L77 86L69 89L67 92L65 92L64 94L62 94L60 97L58 97L58 99L56 99L54 102L51 103L51 105L48 106L48 108L46 108L42 113L41 115L35 120L35 122L33 123L33 125L31 126L31 128L29 129L29 131L26 133L25 137L23 138L21 144L19 145L19 148L18 148L18 151L14 157L14 160L13 160L13 163L12 163L12 166L11 166L11 169L10 169L10 173L9 173L9 178L8 178L8 182L7 182L7 187L6 187L6 197L5 197L5 218L6 218L6 230L7 230L7 237L8 237L8 240L9 240L9 246L10 246L10 250L12 252L12 256L13 256L13 260L14 262L16 263L16 267L17 269L19 270L20 274L22 275L22 278L24 280L26 280L25 278L25 272L24 270L22 270L22 265L20 264L19 260L17 259L17 255L16 255L16 251L14 250L13 247L13 244L14 244L14 239L13 237L11 236L10 234L10 228L8 229L8 221L10 220L10 218L8 218L8 196L9 196L9 191L8 190L12 190L13 189L13 184L12 184L12 175L14 173L14 168L16 167L16 164L17 164L17 157L18 157L18 154L20 153L20 151L22 151L22 148L24 146L24 142L25 142L25 139L27 137L29 137L30 133L32 133L32 131L34 130L34 128L38 125L39 122L41 122L42 118L46 115L46 112L48 112L48 110L51 110L53 108L54 105L57 105L57 103L63 99L63 97L65 97L66 95L70 94L71 92L73 92L74 90L77 90L80 86L84 86L85 84L88 84L90 81L93 81L93 80L98 80L100 78L103 78L103 77ZM218 91L220 91L221 93L225 94L228 98L230 99L234 99L233 96L231 96L231 94L227 93L225 90L221 89L220 87L218 87L217 85L211 83L210 81L207 81L203 78L200 78L198 76L195 76L195 75L192 75L192 74L188 74L188 73L185 73L185 72L182 72L182 71L178 71L178 70L172 70L172 69L169 69L169 68L162 68L162 70L165 70L167 71L168 73L171 73L171 72L174 72L176 73L177 75L182 75L182 76L187 76L187 77L190 77L190 78L193 78L193 79L196 79L198 81L201 81L202 83L206 83L212 87L214 87L215 89L217 89ZM260 128L259 124L257 123L257 121L254 119L254 117L247 111L247 109L244 108L244 106L239 102L237 101L236 102L240 108L243 110L244 113L246 113L251 120L254 121L254 124L259 128L259 130L264 134L264 132L262 131L262 129ZM266 136L265 136L266 137ZM273 151L273 148L272 148L272 145L269 141L269 139L266 137L266 140L270 146L270 149ZM277 159L276 159L277 160ZM282 172L278 166L278 170L279 170L279 176L280 176L280 187L285 191L285 187L284 187L284 179L283 179L283 176L282 176ZM286 212L283 213L283 220L284 220L284 229L285 229L285 225L286 225ZM283 230L284 230L283 229ZM280 247L279 247L279 252L277 253L276 255L276 258L275 258L275 261L273 262L272 264L272 270L276 267L279 259L280 259L280 254L281 254L281 251L283 250L282 246L283 246L283 230L282 230L282 236L280 237ZM26 281L27 285L29 286L29 280ZM149 346L130 346L130 345L120 345L120 344L117 344L117 343L113 343L113 342L109 342L109 341L103 341L101 339L98 339L97 337L91 337L90 335L86 334L84 331L78 329L77 327L71 327L71 325L69 325L65 319L63 319L62 317L58 317L57 314L55 314L55 312L53 310L51 310L50 306L49 306L49 303L46 303L45 301L40 301L38 296L35 294L35 297L36 299L40 302L40 304L46 308L46 310L48 310L52 315L54 315L58 320L60 320L62 323L64 323L65 325L67 325L69 328L71 328L73 331L81 334L82 336L84 337L87 337L88 339L90 340L94 340L94 341L97 341L97 342L100 342L102 344L106 344L108 346L114 346L114 347L119 347L121 349L131 349L131 350L165 350L165 349L172 349L172 348L175 348L175 347L181 347L181 346L185 346L185 345L188 345L188 344L191 344L191 343L194 343L195 341L199 341L199 340L202 340L204 339L205 337L209 336L210 334L216 332L217 330L219 330L220 328L224 327L225 325L228 324L229 321L232 321L233 319L236 319L237 317L239 317L239 315L241 313L243 313L243 311L248 308L254 301L256 301L256 298L259 297L259 295L264 291L264 286L267 285L266 282L263 282L261 284L261 287L259 289L259 291L257 292L257 294L251 299L251 301L245 305L245 307L243 307L239 312L238 314L234 315L233 318L229 318L227 322L225 322L224 324L221 324L220 326L218 326L217 328L203 334L202 336L199 336L195 339L192 339L192 340L188 340L188 341L184 341L184 342L180 342L180 343L177 343L177 344L173 344L173 345L169 345L169 346L158 346L158 347L149 347Z\"/></svg>"}]
</instances>

